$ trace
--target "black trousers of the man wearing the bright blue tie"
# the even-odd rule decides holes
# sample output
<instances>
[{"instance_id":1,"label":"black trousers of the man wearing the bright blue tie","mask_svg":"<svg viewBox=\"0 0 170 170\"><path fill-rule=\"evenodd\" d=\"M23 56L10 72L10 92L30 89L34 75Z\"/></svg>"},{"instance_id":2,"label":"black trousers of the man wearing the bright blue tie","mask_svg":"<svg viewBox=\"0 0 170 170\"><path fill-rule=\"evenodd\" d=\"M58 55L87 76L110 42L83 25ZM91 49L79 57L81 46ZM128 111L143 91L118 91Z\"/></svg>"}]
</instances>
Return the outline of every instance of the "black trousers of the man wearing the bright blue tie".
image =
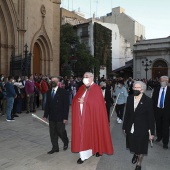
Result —
<instances>
[{"instance_id":1,"label":"black trousers of the man wearing the bright blue tie","mask_svg":"<svg viewBox=\"0 0 170 170\"><path fill-rule=\"evenodd\" d=\"M169 115L164 109L157 108L155 111L156 135L163 139L164 145L169 142Z\"/></svg>"}]
</instances>

